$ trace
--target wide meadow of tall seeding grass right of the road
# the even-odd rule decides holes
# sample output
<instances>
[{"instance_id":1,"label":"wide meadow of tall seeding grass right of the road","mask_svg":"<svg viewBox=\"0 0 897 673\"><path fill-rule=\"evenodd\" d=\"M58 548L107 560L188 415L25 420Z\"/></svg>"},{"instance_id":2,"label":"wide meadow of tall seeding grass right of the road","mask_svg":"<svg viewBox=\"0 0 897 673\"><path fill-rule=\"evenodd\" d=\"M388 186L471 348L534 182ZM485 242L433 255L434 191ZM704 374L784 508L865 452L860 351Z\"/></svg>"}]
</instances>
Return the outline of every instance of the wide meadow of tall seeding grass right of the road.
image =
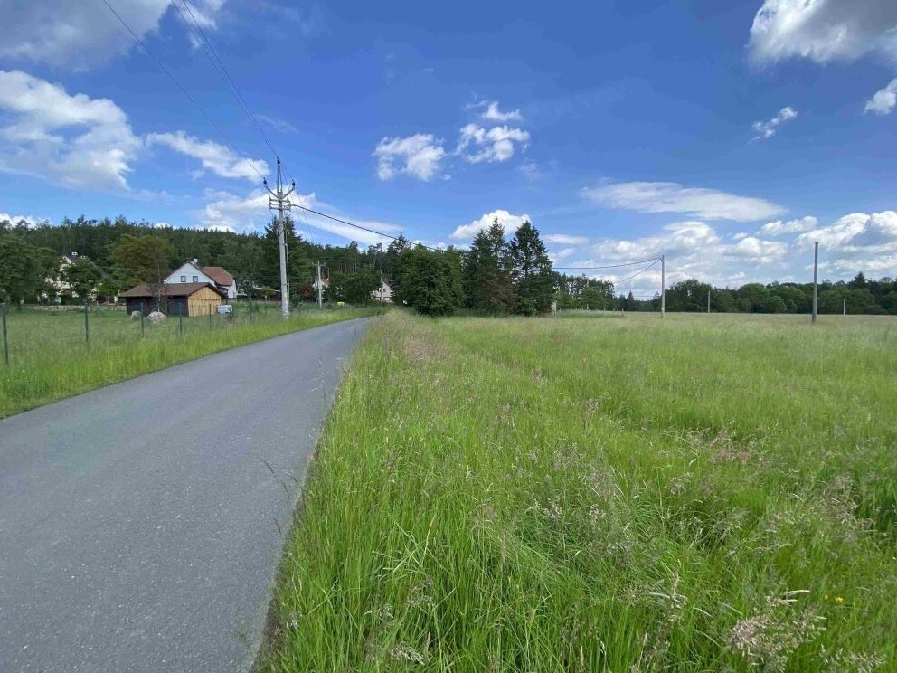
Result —
<instances>
[{"instance_id":1,"label":"wide meadow of tall seeding grass right of the road","mask_svg":"<svg viewBox=\"0 0 897 673\"><path fill-rule=\"evenodd\" d=\"M897 321L392 313L266 671L897 669Z\"/></svg>"}]
</instances>

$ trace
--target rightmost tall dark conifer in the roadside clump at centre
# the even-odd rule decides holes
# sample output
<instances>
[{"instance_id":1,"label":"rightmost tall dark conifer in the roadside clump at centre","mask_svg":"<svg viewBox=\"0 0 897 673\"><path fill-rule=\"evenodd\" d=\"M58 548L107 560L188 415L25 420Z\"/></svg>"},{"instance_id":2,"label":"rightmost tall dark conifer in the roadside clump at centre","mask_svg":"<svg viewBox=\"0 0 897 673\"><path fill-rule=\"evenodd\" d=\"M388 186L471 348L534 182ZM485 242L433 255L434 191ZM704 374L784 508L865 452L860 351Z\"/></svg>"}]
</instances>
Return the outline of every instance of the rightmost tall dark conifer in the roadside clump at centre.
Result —
<instances>
[{"instance_id":1,"label":"rightmost tall dark conifer in the roadside clump at centre","mask_svg":"<svg viewBox=\"0 0 897 673\"><path fill-rule=\"evenodd\" d=\"M547 313L554 297L552 261L539 230L531 223L524 222L515 232L510 256L516 312L527 316Z\"/></svg>"}]
</instances>

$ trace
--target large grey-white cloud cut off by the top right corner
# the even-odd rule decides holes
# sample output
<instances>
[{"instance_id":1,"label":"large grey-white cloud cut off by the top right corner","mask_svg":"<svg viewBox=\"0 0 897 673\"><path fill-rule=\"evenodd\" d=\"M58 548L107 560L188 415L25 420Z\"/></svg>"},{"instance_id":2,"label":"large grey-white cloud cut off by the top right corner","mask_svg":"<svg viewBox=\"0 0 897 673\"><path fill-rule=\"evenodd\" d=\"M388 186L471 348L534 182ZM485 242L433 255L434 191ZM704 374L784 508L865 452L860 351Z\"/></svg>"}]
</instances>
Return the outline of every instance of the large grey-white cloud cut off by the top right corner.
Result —
<instances>
[{"instance_id":1,"label":"large grey-white cloud cut off by the top right corner","mask_svg":"<svg viewBox=\"0 0 897 673\"><path fill-rule=\"evenodd\" d=\"M754 17L749 49L759 63L807 58L854 60L897 55L893 0L766 0Z\"/></svg>"}]
</instances>

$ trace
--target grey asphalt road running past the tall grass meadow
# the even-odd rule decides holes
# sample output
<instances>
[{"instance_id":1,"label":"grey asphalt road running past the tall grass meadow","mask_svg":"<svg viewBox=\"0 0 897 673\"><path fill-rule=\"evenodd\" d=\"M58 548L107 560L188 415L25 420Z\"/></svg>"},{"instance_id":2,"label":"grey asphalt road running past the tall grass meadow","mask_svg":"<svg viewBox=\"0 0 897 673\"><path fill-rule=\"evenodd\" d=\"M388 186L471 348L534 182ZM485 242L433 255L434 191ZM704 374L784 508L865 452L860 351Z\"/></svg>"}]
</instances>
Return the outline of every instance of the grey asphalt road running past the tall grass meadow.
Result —
<instances>
[{"instance_id":1,"label":"grey asphalt road running past the tall grass meadow","mask_svg":"<svg viewBox=\"0 0 897 673\"><path fill-rule=\"evenodd\" d=\"M0 421L0 671L245 671L353 320ZM276 523L277 522L277 523Z\"/></svg>"}]
</instances>

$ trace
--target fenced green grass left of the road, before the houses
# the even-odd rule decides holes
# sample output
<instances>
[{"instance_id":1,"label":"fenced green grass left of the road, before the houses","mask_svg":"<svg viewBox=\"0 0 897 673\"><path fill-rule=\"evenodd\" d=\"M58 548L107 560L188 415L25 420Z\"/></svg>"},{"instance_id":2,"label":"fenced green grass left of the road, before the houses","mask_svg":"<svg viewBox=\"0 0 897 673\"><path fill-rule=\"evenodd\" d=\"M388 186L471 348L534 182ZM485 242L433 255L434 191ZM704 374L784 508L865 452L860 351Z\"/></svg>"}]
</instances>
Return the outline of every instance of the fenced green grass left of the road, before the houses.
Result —
<instances>
[{"instance_id":1,"label":"fenced green grass left of the road, before the houses","mask_svg":"<svg viewBox=\"0 0 897 673\"><path fill-rule=\"evenodd\" d=\"M124 311L92 310L88 340L82 312L12 309L9 366L0 354L0 418L233 346L381 312L301 308L283 320L276 304L235 311L229 321L217 315L181 322L172 317L159 325L146 320L141 327Z\"/></svg>"}]
</instances>

